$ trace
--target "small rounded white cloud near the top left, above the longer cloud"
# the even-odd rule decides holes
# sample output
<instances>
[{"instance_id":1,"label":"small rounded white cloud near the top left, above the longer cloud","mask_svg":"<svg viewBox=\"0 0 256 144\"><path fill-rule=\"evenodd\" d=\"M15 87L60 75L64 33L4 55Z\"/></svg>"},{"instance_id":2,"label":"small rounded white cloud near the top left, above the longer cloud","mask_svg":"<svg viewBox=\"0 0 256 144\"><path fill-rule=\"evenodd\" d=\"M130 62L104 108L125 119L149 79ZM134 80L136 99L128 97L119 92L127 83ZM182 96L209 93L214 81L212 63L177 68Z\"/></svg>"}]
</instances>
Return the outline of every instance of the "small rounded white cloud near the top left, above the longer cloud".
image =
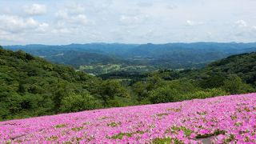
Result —
<instances>
[{"instance_id":1,"label":"small rounded white cloud near the top left, above the longer cloud","mask_svg":"<svg viewBox=\"0 0 256 144\"><path fill-rule=\"evenodd\" d=\"M26 14L29 15L41 15L46 14L46 6L45 5L39 5L39 4L33 4L31 6L23 6L23 10Z\"/></svg>"}]
</instances>

